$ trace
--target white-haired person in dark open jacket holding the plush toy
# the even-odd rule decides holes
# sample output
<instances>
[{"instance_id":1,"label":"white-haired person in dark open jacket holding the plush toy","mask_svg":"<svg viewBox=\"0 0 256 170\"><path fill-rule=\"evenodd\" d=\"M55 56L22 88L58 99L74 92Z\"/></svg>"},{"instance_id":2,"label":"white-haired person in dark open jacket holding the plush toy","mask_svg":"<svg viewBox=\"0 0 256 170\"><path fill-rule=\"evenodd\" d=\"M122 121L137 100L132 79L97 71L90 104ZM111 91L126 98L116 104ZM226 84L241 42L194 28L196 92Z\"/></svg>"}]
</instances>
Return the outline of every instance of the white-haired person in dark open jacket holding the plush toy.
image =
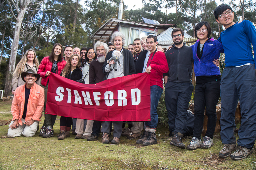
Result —
<instances>
[{"instance_id":1,"label":"white-haired person in dark open jacket holding the plush toy","mask_svg":"<svg viewBox=\"0 0 256 170\"><path fill-rule=\"evenodd\" d=\"M123 48L125 44L125 36L120 32L114 32L111 36L111 43L114 44L115 50L120 51L121 55L119 58L120 65L117 66L117 70L114 69L111 71L110 66L111 64L114 64L114 61L110 61L107 63L107 61L112 57L113 51L110 51L105 59L105 62L103 64L102 70L103 73L106 75L106 79L112 79L116 77L122 77L127 76L131 74L136 74L135 71L135 65L134 65L134 59L133 55L129 50L126 50ZM113 140L111 141L112 144L119 144L119 138L122 134L122 121L113 121L114 125L114 131L113 131ZM110 135L110 129L111 129L111 121L103 121L102 122L102 143L109 143L109 135Z\"/></svg>"}]
</instances>

